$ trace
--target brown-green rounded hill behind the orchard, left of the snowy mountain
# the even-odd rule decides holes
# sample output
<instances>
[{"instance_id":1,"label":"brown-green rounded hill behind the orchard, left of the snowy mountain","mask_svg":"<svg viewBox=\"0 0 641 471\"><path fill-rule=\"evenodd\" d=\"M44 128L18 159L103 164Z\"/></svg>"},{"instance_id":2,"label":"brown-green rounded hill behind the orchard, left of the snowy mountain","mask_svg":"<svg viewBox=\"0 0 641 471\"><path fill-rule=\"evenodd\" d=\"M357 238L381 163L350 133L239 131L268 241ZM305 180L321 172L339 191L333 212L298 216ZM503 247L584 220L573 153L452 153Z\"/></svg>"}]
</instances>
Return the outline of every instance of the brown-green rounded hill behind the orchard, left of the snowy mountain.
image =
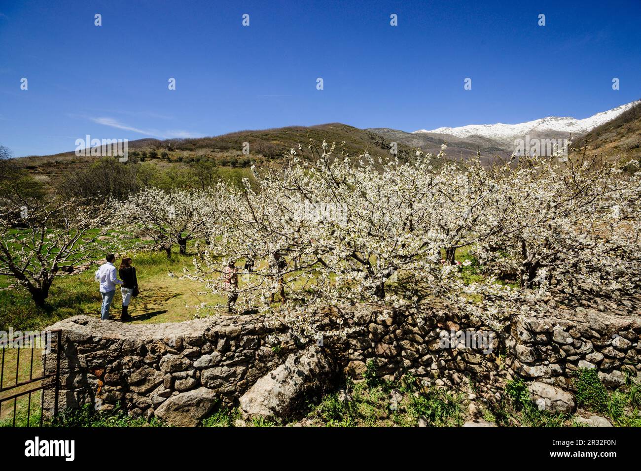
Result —
<instances>
[{"instance_id":1,"label":"brown-green rounded hill behind the orchard, left of the snowy mountain","mask_svg":"<svg viewBox=\"0 0 641 471\"><path fill-rule=\"evenodd\" d=\"M129 142L129 156L132 161L153 164L159 172L190 170L194 166L208 163L218 169L219 174L232 174L240 178L247 174L252 165L260 168L280 167L287 161L290 149L298 152L303 145L304 156L311 158L307 149L310 139L318 144L345 142L345 151L350 156L358 156L366 151L374 157L390 156L390 142L372 131L354 128L347 124L330 123L319 126L288 126L286 128L238 131L221 136L187 139L141 139ZM242 152L244 143L249 143L249 154ZM406 158L415 149L405 144L398 145L398 155ZM98 157L76 156L73 151L47 156L29 156L15 160L33 178L49 190L57 189L62 182L90 165L95 165ZM172 175L167 177L174 178Z\"/></svg>"}]
</instances>

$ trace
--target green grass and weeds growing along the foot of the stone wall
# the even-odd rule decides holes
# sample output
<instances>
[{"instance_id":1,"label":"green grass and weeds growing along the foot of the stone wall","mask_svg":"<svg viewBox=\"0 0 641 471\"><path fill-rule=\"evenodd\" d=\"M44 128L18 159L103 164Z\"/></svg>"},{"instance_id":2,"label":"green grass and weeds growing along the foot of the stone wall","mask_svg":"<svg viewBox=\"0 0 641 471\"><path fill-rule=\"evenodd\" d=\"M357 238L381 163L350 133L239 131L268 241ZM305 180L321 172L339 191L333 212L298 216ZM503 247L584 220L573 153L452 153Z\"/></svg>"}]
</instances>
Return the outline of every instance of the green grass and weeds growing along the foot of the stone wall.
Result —
<instances>
[{"instance_id":1,"label":"green grass and weeds growing along the foot of the stone wall","mask_svg":"<svg viewBox=\"0 0 641 471\"><path fill-rule=\"evenodd\" d=\"M626 387L607 392L592 374L580 372L578 401L587 411L600 413L620 427L640 427L640 386L631 381ZM283 422L276 418L253 418L246 423L251 427L279 427L303 424L320 427L415 427L420 420L429 427L460 427L466 419L467 401L463 393L442 388L423 386L419 379L406 374L399 381L387 381L376 376L376 367L370 362L364 379L354 382L344 379L340 392L324 395L320 402L308 402L301 422ZM395 396L399 399L392 401ZM520 379L508 381L504 399L498 408L479 407L487 422L500 427L565 427L581 426L571 415L540 411L531 401L527 385ZM579 399L580 398L580 399ZM585 398L589 401L585 402ZM596 399L594 399L596 398ZM38 424L39 396L32 399L31 426ZM592 404L592 405L590 405ZM11 405L11 404L10 404ZM596 409L595 409L596 408ZM235 427L242 417L238 408L219 407L203 419L202 427ZM44 420L45 426L54 427L162 427L158 419L146 420L129 417L121 408L96 412L87 405L81 409L64 411L56 420ZM12 409L0 418L0 427L12 426ZM26 407L18 408L16 426L26 426Z\"/></svg>"}]
</instances>

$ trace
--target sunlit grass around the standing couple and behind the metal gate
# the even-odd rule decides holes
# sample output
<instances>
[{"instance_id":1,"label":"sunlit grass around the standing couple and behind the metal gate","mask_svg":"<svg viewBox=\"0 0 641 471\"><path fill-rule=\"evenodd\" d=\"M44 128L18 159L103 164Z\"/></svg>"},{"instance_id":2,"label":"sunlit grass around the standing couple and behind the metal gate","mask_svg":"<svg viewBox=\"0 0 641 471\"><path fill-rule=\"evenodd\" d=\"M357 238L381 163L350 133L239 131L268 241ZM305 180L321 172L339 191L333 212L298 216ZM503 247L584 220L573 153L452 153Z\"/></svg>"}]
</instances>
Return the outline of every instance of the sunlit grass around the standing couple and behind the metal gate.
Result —
<instances>
[{"instance_id":1,"label":"sunlit grass around the standing couple and behind the metal gate","mask_svg":"<svg viewBox=\"0 0 641 471\"><path fill-rule=\"evenodd\" d=\"M199 293L203 290L200 283L179 276L183 268L192 266L189 256L172 255L167 259L165 252L143 252L137 254L134 264L137 267L140 295L131 302L129 314L134 324L156 322L181 322L194 317L194 306L201 302L224 306L226 299L211 293ZM92 267L78 275L56 277L44 309L35 306L29 293L18 286L12 290L0 291L0 331L41 331L54 322L74 315L84 314L98 318L100 315L101 295L94 281ZM169 272L176 276L169 276ZM112 318L120 318L119 293L116 293L112 304ZM17 334L14 334L17 335ZM33 352L33 359L31 354ZM30 377L42 375L41 349L3 349L4 368L2 370L2 387L28 381ZM31 363L33 361L33 372ZM26 391L38 384L26 384L0 393L0 399L15 393ZM37 396L37 397L36 397ZM40 393L31 395L33 404L40 404ZM19 397L15 408L17 423L26 424L29 398ZM0 408L0 421L13 417L13 401L4 402ZM29 414L29 422L33 416Z\"/></svg>"}]
</instances>

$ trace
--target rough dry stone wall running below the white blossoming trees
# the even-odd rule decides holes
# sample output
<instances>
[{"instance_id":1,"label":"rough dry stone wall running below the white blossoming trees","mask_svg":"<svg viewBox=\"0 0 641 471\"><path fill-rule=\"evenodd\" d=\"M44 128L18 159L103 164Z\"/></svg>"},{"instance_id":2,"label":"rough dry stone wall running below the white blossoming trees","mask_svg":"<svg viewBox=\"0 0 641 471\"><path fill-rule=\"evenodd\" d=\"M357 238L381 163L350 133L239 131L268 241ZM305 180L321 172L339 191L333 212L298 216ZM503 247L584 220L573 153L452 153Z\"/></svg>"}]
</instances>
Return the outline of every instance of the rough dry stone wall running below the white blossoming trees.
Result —
<instances>
[{"instance_id":1,"label":"rough dry stone wall running below the white blossoming trees","mask_svg":"<svg viewBox=\"0 0 641 471\"><path fill-rule=\"evenodd\" d=\"M358 380L374 361L389 379L410 373L453 389L472 381L485 402L500 401L504 381L519 376L540 407L572 411L576 368L598 368L613 388L626 372L641 375L637 313L553 311L515 318L503 332L442 307L424 314L362 306L343 312L342 324L327 314L318 321L326 335L316 343L260 315L136 325L69 318L51 327L63 331L60 408L120 404L131 415L177 426L195 426L221 404L240 404L247 416L292 417L302 397L331 389L341 375ZM339 326L349 333L330 335ZM447 342L451 335L472 348ZM479 335L490 342L470 345ZM49 372L54 358L48 356ZM53 408L53 392L46 408Z\"/></svg>"}]
</instances>

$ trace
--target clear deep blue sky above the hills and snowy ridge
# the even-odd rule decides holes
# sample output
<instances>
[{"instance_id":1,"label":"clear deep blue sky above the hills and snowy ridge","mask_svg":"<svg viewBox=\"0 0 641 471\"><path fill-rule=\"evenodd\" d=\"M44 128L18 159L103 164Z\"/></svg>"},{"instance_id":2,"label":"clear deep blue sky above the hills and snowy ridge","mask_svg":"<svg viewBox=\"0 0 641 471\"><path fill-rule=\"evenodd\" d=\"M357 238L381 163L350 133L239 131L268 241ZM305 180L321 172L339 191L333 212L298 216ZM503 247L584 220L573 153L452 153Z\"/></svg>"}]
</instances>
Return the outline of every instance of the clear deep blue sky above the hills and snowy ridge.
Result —
<instances>
[{"instance_id":1,"label":"clear deep blue sky above the hills and snowy ridge","mask_svg":"<svg viewBox=\"0 0 641 471\"><path fill-rule=\"evenodd\" d=\"M585 118L641 97L640 24L639 0L0 0L0 144Z\"/></svg>"}]
</instances>

